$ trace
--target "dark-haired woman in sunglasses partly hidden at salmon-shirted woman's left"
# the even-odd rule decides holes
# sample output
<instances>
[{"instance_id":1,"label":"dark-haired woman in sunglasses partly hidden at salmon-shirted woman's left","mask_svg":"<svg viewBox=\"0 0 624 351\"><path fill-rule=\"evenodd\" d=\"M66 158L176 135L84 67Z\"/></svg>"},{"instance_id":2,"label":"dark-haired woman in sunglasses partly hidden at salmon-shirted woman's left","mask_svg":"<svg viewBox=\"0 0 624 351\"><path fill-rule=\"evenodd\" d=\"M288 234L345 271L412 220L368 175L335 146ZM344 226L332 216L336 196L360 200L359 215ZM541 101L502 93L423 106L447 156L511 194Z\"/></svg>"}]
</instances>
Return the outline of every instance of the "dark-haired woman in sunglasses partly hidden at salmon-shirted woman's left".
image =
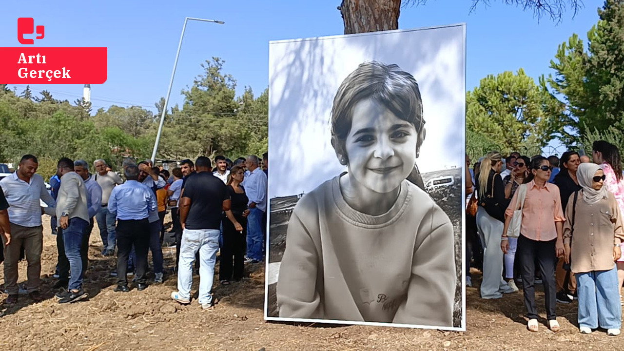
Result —
<instances>
[{"instance_id":1,"label":"dark-haired woman in sunglasses partly hidden at salmon-shirted woman's left","mask_svg":"<svg viewBox=\"0 0 624 351\"><path fill-rule=\"evenodd\" d=\"M505 197L507 197L507 199L514 197L515 190L518 190L520 184L524 184L524 180L529 177L529 163L529 157L518 157L513 164L514 170L503 179L503 184L505 185ZM507 250L504 258L505 280L507 281L507 285L509 285L511 289L514 289L514 292L519 291L514 280L515 250L517 247L518 238L510 237L509 250Z\"/></svg>"}]
</instances>

